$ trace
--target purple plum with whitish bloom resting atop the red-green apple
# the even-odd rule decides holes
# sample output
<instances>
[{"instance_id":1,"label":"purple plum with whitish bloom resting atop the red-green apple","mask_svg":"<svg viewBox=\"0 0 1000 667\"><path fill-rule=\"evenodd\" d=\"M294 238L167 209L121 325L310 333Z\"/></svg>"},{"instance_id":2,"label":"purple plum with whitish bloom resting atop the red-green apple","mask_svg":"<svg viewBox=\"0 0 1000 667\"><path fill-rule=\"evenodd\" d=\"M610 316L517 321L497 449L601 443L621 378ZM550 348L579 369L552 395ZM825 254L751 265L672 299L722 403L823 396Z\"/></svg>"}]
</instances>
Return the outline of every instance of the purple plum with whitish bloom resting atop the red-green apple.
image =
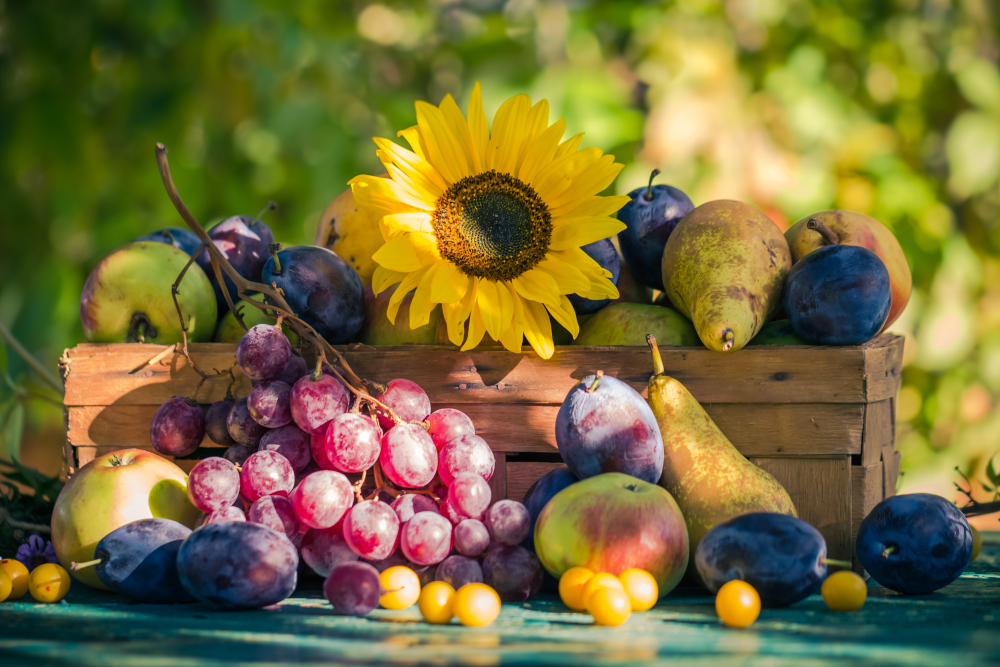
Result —
<instances>
[{"instance_id":1,"label":"purple plum with whitish bloom resting atop the red-green apple","mask_svg":"<svg viewBox=\"0 0 1000 667\"><path fill-rule=\"evenodd\" d=\"M656 484L663 472L663 439L646 399L600 371L566 395L556 445L577 479L620 472Z\"/></svg>"}]
</instances>

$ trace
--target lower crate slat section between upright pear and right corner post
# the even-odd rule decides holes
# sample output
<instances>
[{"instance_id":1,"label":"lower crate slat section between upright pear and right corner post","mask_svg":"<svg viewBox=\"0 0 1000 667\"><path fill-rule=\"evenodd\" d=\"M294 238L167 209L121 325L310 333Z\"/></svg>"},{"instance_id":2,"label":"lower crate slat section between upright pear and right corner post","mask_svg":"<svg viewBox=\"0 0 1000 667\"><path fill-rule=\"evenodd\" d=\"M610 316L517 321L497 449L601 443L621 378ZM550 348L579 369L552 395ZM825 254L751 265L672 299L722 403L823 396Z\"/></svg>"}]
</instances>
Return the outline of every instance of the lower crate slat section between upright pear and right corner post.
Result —
<instances>
[{"instance_id":1,"label":"lower crate slat section between upright pear and right corner post","mask_svg":"<svg viewBox=\"0 0 1000 667\"><path fill-rule=\"evenodd\" d=\"M751 458L774 475L795 503L799 518L816 527L826 539L830 558L850 560L851 458Z\"/></svg>"}]
</instances>

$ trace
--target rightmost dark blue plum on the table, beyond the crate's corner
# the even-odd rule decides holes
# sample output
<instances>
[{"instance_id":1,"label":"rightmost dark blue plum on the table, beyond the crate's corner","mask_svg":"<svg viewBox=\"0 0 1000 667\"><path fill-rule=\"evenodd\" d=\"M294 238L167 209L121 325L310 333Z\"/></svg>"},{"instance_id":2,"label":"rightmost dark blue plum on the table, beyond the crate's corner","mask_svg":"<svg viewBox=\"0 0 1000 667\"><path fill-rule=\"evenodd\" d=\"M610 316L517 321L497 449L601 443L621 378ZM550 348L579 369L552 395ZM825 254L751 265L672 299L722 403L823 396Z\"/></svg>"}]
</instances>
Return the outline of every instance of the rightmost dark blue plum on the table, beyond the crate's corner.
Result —
<instances>
[{"instance_id":1,"label":"rightmost dark blue plum on the table, beyond the crate's corner","mask_svg":"<svg viewBox=\"0 0 1000 667\"><path fill-rule=\"evenodd\" d=\"M941 496L893 496L861 522L857 552L875 581L922 595L947 586L968 567L972 529L962 511Z\"/></svg>"}]
</instances>

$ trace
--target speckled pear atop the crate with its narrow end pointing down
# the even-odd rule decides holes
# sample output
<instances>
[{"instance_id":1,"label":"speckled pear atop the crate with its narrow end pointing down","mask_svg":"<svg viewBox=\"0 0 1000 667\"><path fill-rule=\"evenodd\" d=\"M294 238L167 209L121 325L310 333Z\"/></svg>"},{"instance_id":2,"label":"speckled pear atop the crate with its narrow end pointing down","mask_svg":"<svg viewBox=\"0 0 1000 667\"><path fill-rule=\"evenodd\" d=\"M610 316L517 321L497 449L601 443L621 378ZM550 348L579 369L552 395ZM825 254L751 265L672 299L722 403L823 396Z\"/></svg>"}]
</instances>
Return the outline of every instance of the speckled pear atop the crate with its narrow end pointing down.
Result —
<instances>
[{"instance_id":1,"label":"speckled pear atop the crate with its narrow end pointing down","mask_svg":"<svg viewBox=\"0 0 1000 667\"><path fill-rule=\"evenodd\" d=\"M781 305L792 268L778 226L749 204L720 199L677 223L663 249L667 296L716 352L750 342Z\"/></svg>"}]
</instances>

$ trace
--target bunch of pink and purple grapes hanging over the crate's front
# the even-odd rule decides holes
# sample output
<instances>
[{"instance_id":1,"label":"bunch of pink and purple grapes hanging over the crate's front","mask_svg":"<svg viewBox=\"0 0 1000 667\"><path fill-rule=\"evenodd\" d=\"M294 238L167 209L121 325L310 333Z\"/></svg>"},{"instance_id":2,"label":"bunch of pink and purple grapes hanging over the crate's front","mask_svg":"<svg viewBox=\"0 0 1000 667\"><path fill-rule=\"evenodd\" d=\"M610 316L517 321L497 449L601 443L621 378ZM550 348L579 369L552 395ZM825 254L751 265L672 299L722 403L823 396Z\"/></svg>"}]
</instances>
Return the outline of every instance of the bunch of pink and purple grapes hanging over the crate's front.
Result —
<instances>
[{"instance_id":1,"label":"bunch of pink and purple grapes hanging over the crate's front","mask_svg":"<svg viewBox=\"0 0 1000 667\"><path fill-rule=\"evenodd\" d=\"M432 412L424 390L405 379L381 388L377 403L358 401L326 369L309 372L271 325L250 329L236 359L254 381L247 398L219 401L207 414L172 398L150 431L168 455L192 454L206 433L229 447L191 470L188 496L204 512L201 525L269 526L322 577L360 559L380 572L406 565L422 583L486 583L507 601L538 592L541 564L521 546L530 539L528 510L492 502L493 452L466 414ZM351 479L376 466L392 487L355 502L364 496Z\"/></svg>"}]
</instances>

